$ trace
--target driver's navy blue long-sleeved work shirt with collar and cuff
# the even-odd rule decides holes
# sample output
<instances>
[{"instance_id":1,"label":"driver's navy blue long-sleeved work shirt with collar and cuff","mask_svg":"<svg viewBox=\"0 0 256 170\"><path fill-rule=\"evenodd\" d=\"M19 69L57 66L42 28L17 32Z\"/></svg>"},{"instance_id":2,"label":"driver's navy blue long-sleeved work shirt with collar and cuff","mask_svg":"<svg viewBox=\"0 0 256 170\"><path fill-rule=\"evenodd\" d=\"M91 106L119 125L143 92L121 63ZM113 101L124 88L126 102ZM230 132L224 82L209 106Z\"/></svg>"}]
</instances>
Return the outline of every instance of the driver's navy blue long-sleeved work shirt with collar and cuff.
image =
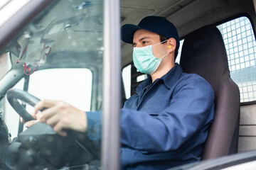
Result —
<instances>
[{"instance_id":1,"label":"driver's navy blue long-sleeved work shirt with collar and cuff","mask_svg":"<svg viewBox=\"0 0 256 170\"><path fill-rule=\"evenodd\" d=\"M122 169L161 170L199 161L213 98L210 84L183 73L179 64L153 83L151 77L142 82L121 109ZM95 120L88 115L90 132Z\"/></svg>"}]
</instances>

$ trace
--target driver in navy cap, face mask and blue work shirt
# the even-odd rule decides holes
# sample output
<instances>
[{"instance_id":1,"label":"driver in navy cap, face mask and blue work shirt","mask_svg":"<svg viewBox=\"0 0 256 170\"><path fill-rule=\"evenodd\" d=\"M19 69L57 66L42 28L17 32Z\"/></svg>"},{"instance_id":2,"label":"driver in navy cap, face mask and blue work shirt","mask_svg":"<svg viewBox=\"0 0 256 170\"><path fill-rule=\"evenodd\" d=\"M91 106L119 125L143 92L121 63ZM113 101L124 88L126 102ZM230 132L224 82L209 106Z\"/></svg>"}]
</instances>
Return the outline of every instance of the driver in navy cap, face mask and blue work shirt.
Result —
<instances>
[{"instance_id":1,"label":"driver in navy cap, face mask and blue work shirt","mask_svg":"<svg viewBox=\"0 0 256 170\"><path fill-rule=\"evenodd\" d=\"M122 169L168 169L201 159L213 120L213 90L196 74L175 64L179 38L166 18L148 16L138 26L122 26L122 40L133 44L134 65L150 74L121 109ZM193 55L193 54L192 54ZM93 114L61 101L40 101L35 113L60 135L70 128L98 140L100 113ZM33 122L26 123L26 126Z\"/></svg>"}]
</instances>

